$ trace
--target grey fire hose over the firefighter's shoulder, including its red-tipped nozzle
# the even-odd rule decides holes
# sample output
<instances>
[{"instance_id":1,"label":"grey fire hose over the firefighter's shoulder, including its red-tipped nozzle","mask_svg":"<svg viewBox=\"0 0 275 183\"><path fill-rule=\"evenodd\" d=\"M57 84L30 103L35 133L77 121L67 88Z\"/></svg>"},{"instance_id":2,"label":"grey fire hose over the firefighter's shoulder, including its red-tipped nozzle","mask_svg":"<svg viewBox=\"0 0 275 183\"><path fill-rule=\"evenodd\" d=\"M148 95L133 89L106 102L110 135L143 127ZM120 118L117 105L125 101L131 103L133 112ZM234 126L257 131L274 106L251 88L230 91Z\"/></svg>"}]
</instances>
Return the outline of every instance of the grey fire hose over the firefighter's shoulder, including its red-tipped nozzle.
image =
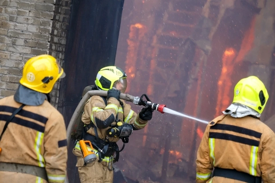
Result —
<instances>
[{"instance_id":1,"label":"grey fire hose over the firefighter's shoulder, including its red-tipped nozzle","mask_svg":"<svg viewBox=\"0 0 275 183\"><path fill-rule=\"evenodd\" d=\"M71 138L71 134L72 134L72 129L74 127L74 125L76 124L76 122L78 121L77 119L82 115L81 111L85 105L85 103L89 100L90 97L97 95L97 96L102 96L102 97L107 97L107 91L104 90L91 90L88 91L83 98L80 100L80 102L78 103L74 113L72 114L72 117L70 119L68 128L67 128L67 149L69 147L70 144L70 138ZM146 98L147 101L143 100L143 97ZM132 95L129 94L124 94L121 93L120 94L120 99L123 99L125 101L129 101L134 103L135 105L143 105L147 108L151 108L152 111L157 110L160 113L164 113L163 109L164 107L166 107L166 105L160 105L160 104L156 104L156 103L152 103L151 100L148 98L148 96L146 94L143 94L141 97L134 97ZM65 179L65 183L69 183L68 177L66 176Z\"/></svg>"}]
</instances>

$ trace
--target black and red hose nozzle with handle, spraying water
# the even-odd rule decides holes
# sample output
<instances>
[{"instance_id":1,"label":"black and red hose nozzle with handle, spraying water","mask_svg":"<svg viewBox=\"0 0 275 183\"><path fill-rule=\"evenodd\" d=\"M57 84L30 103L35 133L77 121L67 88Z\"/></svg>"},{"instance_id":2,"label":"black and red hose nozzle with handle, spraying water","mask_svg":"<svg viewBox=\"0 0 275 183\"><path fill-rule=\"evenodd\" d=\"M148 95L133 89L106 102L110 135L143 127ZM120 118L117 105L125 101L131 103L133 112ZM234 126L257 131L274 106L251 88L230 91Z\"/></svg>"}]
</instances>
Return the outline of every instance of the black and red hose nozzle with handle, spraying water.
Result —
<instances>
[{"instance_id":1,"label":"black and red hose nozzle with handle, spraying water","mask_svg":"<svg viewBox=\"0 0 275 183\"><path fill-rule=\"evenodd\" d=\"M142 99L143 97L145 97L147 101L144 101ZM166 107L166 105L164 105L164 104L152 103L146 94L143 94L141 97L135 97L133 100L133 103L135 105L143 105L149 109L152 109L152 111L157 110L158 112L160 112L162 114L164 113L163 108Z\"/></svg>"}]
</instances>

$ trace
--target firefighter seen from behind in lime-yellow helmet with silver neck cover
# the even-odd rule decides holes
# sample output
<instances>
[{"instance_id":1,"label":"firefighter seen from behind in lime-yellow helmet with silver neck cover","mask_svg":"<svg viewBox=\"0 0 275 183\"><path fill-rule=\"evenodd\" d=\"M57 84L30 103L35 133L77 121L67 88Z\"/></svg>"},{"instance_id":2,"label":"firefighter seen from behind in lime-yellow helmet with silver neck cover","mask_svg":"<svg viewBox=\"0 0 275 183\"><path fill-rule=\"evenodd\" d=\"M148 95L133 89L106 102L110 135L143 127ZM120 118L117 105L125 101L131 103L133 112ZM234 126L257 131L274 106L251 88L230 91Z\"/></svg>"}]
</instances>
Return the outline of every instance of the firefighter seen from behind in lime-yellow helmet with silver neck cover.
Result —
<instances>
[{"instance_id":1,"label":"firefighter seen from behind in lime-yellow helmet with silver neck cover","mask_svg":"<svg viewBox=\"0 0 275 183\"><path fill-rule=\"evenodd\" d=\"M256 76L236 84L232 104L204 132L197 183L275 182L275 134L260 121L267 100L266 87Z\"/></svg>"}]
</instances>

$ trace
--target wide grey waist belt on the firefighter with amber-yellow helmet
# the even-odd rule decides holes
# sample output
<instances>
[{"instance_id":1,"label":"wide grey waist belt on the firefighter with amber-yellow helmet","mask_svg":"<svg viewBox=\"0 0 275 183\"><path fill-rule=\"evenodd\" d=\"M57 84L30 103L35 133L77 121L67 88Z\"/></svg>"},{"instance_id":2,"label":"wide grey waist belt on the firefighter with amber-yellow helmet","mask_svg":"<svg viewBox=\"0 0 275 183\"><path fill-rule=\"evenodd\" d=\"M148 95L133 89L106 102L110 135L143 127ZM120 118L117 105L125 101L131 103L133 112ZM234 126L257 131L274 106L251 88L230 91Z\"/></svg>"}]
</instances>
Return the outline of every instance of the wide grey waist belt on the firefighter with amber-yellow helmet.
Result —
<instances>
[{"instance_id":1,"label":"wide grey waist belt on the firefighter with amber-yellow helmet","mask_svg":"<svg viewBox=\"0 0 275 183\"><path fill-rule=\"evenodd\" d=\"M48 182L46 169L34 165L23 165L18 163L0 162L0 171L3 172L18 172L23 174L30 174L40 177Z\"/></svg>"}]
</instances>

